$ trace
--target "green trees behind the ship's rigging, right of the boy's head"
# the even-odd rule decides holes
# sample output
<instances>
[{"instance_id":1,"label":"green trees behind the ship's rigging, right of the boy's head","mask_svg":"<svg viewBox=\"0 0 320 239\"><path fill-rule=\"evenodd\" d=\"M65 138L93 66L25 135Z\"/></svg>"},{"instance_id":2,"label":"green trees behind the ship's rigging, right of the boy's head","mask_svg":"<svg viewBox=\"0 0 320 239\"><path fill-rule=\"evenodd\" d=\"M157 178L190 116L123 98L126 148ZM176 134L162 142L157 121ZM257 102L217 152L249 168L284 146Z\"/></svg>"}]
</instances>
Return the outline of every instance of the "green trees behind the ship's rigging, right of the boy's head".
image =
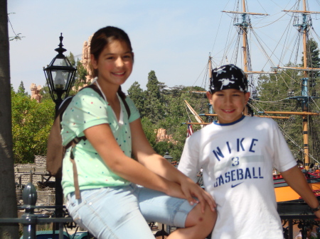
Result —
<instances>
[{"instance_id":1,"label":"green trees behind the ship's rigging, right of the boy's head","mask_svg":"<svg viewBox=\"0 0 320 239\"><path fill-rule=\"evenodd\" d=\"M287 67L299 67L289 63ZM270 77L261 77L257 87L259 91L260 101L253 101L255 111L302 111L302 103L297 100L297 96L302 96L302 78L303 72L297 70L282 70L279 74L272 74ZM310 80L310 79L309 79ZM317 89L318 88L318 89ZM319 87L314 85L309 89L309 94L313 91L319 92ZM262 102L263 101L263 102ZM309 102L308 111L312 111L316 107L312 102ZM315 108L315 111L318 109ZM257 113L257 112L256 112ZM299 115L285 115L285 114L271 114L270 116L284 116L289 117L285 119L274 118L277 121L279 128L282 129L289 148L292 150L294 157L299 160L304 158L304 140L302 128L302 116ZM312 118L311 118L312 117ZM319 116L309 116L309 153L319 158Z\"/></svg>"}]
</instances>

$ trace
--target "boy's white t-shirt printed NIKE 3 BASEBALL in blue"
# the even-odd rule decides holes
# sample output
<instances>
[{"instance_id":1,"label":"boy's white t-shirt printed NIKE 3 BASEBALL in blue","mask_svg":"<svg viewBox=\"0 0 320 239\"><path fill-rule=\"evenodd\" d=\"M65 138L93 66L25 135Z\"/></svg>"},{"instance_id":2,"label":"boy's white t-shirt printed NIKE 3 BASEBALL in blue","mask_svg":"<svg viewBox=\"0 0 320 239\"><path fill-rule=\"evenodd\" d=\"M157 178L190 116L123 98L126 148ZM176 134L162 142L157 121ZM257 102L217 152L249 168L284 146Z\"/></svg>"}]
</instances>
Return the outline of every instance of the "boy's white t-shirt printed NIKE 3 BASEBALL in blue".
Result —
<instances>
[{"instance_id":1,"label":"boy's white t-shirt printed NIKE 3 BASEBALL in blue","mask_svg":"<svg viewBox=\"0 0 320 239\"><path fill-rule=\"evenodd\" d=\"M229 124L212 123L186 140L178 165L203 183L218 207L213 239L282 239L272 179L273 168L297 166L277 123L243 116Z\"/></svg>"}]
</instances>

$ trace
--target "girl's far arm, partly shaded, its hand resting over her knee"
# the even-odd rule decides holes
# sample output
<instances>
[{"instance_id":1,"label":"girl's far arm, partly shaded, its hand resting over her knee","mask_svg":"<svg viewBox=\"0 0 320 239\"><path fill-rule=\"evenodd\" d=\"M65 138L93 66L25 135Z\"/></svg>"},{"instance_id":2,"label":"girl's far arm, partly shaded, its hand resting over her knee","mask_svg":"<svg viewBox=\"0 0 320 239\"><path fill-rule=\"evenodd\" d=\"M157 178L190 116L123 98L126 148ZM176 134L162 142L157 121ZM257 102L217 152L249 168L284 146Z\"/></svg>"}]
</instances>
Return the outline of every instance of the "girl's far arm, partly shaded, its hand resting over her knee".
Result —
<instances>
[{"instance_id":1,"label":"girl's far arm, partly shaded, its hand resting over her knee","mask_svg":"<svg viewBox=\"0 0 320 239\"><path fill-rule=\"evenodd\" d=\"M208 202L210 209L214 210L216 205L210 194L201 189L198 184L194 183L182 172L178 171L178 169L172 166L164 157L154 152L146 139L146 135L144 135L140 119L130 123L130 129L132 135L132 152L142 165L159 176L180 184L183 194L185 194L186 199L191 204L196 202L193 198L196 197L198 201L202 203L203 211L206 202Z\"/></svg>"}]
</instances>

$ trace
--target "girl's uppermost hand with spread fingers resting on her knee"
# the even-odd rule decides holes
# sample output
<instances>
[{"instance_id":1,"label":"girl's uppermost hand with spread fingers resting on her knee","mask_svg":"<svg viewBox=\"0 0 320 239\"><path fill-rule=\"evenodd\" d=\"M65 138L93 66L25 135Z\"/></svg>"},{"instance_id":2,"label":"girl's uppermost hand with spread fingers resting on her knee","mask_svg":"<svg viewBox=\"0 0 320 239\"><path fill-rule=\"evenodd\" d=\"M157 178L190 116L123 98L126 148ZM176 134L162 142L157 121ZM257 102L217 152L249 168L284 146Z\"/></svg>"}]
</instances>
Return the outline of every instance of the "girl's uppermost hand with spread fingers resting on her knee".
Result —
<instances>
[{"instance_id":1,"label":"girl's uppermost hand with spread fingers resting on her knee","mask_svg":"<svg viewBox=\"0 0 320 239\"><path fill-rule=\"evenodd\" d=\"M200 203L201 211L203 213L205 211L206 204L210 206L211 211L215 211L215 207L217 205L215 204L213 197L191 179L187 178L186 180L183 180L183 182L181 182L181 189L183 194L186 196L186 199L189 201L189 204L193 205L195 203Z\"/></svg>"}]
</instances>

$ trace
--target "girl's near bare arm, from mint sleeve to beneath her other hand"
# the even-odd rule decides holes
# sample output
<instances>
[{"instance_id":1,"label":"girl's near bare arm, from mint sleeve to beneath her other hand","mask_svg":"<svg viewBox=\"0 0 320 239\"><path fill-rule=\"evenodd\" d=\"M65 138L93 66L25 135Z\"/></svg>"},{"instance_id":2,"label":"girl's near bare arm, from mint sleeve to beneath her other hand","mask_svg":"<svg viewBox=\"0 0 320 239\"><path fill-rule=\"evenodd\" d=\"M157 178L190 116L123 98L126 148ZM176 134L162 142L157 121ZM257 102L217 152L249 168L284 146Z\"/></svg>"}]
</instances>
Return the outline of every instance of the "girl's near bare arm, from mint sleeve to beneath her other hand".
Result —
<instances>
[{"instance_id":1,"label":"girl's near bare arm, from mint sleeve to beneath her other hand","mask_svg":"<svg viewBox=\"0 0 320 239\"><path fill-rule=\"evenodd\" d=\"M181 187L176 182L164 179L132 160L122 152L115 140L109 124L100 124L84 130L87 140L105 161L105 164L120 177L149 189L162 191L169 196L186 199Z\"/></svg>"}]
</instances>

